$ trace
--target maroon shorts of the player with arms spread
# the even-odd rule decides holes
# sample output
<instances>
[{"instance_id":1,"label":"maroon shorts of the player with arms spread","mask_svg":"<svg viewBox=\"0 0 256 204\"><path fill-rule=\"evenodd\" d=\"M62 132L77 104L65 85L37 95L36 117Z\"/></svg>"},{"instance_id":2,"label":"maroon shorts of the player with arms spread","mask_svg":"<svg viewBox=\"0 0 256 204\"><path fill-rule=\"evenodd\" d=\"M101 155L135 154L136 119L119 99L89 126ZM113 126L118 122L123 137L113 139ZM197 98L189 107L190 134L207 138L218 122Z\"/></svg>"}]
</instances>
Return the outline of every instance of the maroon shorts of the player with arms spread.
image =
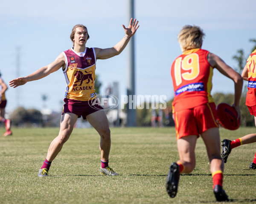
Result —
<instances>
[{"instance_id":1,"label":"maroon shorts of the player with arms spread","mask_svg":"<svg viewBox=\"0 0 256 204\"><path fill-rule=\"evenodd\" d=\"M63 112L64 113L74 113L78 115L79 118L81 116L83 119L86 119L86 116L94 113L99 110L104 110L100 105L99 99L92 99L90 101L78 101L74 99L64 99Z\"/></svg>"}]
</instances>

